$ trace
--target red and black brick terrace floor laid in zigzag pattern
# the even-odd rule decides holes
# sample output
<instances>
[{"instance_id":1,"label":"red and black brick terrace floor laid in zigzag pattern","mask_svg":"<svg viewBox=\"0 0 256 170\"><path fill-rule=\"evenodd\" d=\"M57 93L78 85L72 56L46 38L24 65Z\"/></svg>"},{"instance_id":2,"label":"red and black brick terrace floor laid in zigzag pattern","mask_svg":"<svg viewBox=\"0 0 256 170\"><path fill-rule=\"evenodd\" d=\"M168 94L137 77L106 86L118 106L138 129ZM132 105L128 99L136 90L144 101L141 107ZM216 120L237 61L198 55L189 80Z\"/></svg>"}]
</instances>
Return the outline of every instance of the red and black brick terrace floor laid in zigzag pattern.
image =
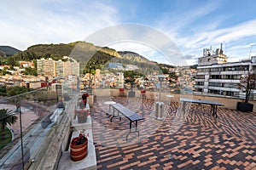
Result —
<instances>
[{"instance_id":1,"label":"red and black brick terrace floor laid in zigzag pattern","mask_svg":"<svg viewBox=\"0 0 256 170\"><path fill-rule=\"evenodd\" d=\"M177 103L165 106L164 121L154 119L154 101L114 98L145 119L129 133L126 118L109 122L109 98L91 108L98 169L256 169L256 114L218 108L218 118L203 105L184 114ZM174 113L176 111L176 113Z\"/></svg>"}]
</instances>

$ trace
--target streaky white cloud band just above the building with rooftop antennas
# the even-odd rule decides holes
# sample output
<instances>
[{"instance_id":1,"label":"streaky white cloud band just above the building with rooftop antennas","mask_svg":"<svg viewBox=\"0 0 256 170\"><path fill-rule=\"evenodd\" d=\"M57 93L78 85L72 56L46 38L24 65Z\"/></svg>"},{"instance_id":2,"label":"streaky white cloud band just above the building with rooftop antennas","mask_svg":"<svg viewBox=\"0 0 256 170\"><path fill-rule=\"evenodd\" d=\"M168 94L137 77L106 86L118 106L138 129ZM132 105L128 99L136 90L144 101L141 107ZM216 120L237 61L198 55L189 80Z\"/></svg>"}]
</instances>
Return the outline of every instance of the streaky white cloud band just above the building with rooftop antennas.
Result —
<instances>
[{"instance_id":1,"label":"streaky white cloud band just above the building with rooftop antennas","mask_svg":"<svg viewBox=\"0 0 256 170\"><path fill-rule=\"evenodd\" d=\"M179 35L175 42L179 47L183 47L183 53L196 54L198 57L201 57L203 48L210 46L219 48L219 44L223 42L229 47L227 51L224 51L230 58L229 61L237 61L248 54L250 44L254 44L256 41L255 28L256 20L250 20L228 28L212 30L207 28L207 31L196 31L194 35L188 37ZM250 41L254 42L248 44L248 37Z\"/></svg>"}]
</instances>

